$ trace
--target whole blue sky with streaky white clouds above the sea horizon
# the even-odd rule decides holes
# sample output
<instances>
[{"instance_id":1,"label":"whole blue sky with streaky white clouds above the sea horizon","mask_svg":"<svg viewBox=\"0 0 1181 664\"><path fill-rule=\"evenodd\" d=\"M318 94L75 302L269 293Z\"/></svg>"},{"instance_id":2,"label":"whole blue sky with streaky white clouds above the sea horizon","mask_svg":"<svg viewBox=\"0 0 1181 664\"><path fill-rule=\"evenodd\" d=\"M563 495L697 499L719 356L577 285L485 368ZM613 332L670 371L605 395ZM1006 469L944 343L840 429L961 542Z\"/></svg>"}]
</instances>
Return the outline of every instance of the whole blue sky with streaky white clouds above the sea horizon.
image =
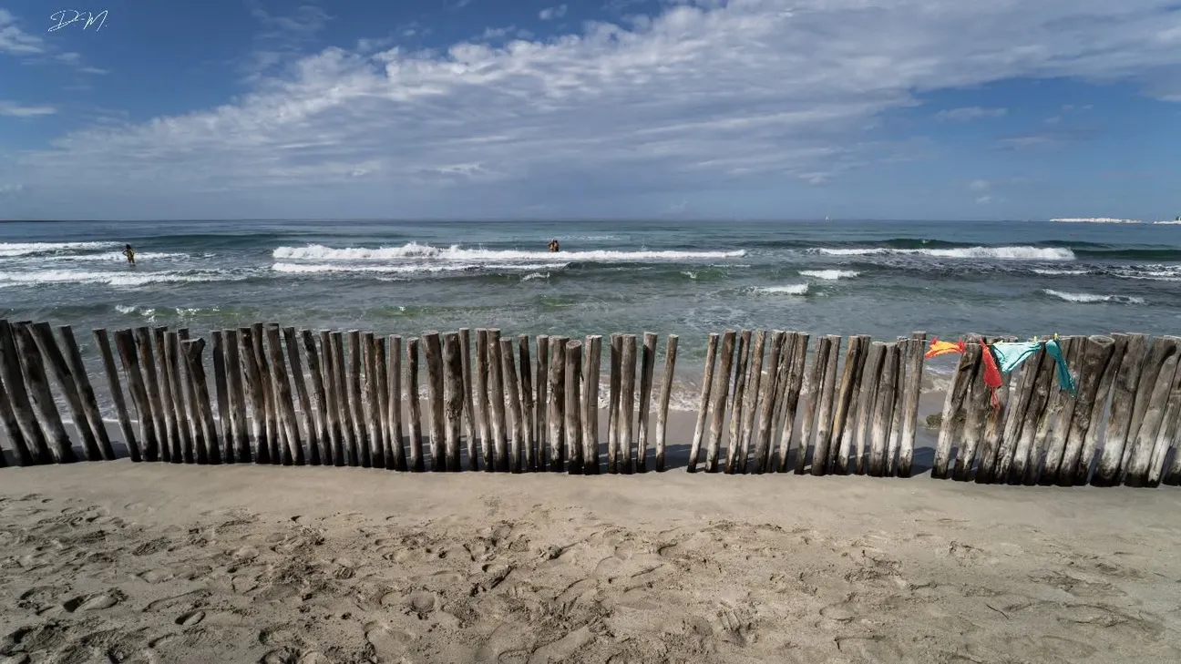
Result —
<instances>
[{"instance_id":1,"label":"whole blue sky with streaky white clouds above the sea horizon","mask_svg":"<svg viewBox=\"0 0 1181 664\"><path fill-rule=\"evenodd\" d=\"M0 0L0 219L1181 214L1176 0L74 8Z\"/></svg>"}]
</instances>

